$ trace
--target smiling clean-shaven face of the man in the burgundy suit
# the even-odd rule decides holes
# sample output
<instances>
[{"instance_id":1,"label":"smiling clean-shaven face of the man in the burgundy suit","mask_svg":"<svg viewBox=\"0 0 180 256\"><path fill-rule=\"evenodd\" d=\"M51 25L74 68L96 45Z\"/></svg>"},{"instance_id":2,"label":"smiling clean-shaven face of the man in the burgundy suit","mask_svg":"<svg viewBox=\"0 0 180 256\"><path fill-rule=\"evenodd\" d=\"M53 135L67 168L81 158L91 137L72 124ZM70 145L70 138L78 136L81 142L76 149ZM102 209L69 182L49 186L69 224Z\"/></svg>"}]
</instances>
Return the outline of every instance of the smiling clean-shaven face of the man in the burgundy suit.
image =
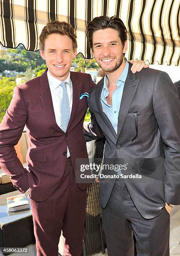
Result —
<instances>
[{"instance_id":1,"label":"smiling clean-shaven face of the man in the burgundy suit","mask_svg":"<svg viewBox=\"0 0 180 256\"><path fill-rule=\"evenodd\" d=\"M62 82L65 81L70 72L72 59L76 56L71 38L56 33L47 36L44 51L40 49L40 54L46 61L50 74Z\"/></svg>"}]
</instances>

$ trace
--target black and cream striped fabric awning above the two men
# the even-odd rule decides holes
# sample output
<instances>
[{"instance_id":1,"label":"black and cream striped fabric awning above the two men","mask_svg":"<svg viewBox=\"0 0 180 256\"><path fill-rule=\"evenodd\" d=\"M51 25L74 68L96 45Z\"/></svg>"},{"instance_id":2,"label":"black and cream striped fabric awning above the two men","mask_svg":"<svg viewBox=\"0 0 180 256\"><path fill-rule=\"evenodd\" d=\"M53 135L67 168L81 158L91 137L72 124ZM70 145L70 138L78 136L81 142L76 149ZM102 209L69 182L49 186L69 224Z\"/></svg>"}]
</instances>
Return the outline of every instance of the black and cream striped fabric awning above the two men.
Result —
<instances>
[{"instance_id":1,"label":"black and cream striped fabric awning above the two men","mask_svg":"<svg viewBox=\"0 0 180 256\"><path fill-rule=\"evenodd\" d=\"M128 60L180 64L180 0L0 0L0 42L36 51L43 26L57 19L72 24L78 53L90 59L85 28L100 15L117 15L125 23Z\"/></svg>"}]
</instances>

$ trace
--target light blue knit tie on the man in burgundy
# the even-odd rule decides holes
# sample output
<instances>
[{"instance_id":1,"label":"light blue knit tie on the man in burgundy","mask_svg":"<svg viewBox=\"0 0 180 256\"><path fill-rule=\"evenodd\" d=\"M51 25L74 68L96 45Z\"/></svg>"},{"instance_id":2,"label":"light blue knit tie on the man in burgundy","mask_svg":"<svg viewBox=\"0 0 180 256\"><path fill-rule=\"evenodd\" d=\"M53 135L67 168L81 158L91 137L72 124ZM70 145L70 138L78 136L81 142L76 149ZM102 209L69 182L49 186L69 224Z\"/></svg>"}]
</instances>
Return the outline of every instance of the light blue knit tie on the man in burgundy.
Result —
<instances>
[{"instance_id":1,"label":"light blue knit tie on the man in burgundy","mask_svg":"<svg viewBox=\"0 0 180 256\"><path fill-rule=\"evenodd\" d=\"M70 120L70 103L67 95L66 82L62 82L60 86L62 87L62 90L63 90L62 102L61 102L61 126L62 126L62 131L66 132L67 125Z\"/></svg>"}]
</instances>

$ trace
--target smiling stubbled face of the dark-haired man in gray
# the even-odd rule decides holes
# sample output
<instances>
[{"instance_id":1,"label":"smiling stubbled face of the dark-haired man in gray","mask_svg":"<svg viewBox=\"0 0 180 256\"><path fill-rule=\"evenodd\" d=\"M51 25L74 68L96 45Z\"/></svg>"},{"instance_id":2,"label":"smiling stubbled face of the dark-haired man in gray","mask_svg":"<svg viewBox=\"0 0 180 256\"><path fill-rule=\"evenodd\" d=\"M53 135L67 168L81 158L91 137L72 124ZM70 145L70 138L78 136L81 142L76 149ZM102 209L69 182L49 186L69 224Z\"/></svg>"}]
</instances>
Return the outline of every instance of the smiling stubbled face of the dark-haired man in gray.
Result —
<instances>
[{"instance_id":1,"label":"smiling stubbled face of the dark-haired man in gray","mask_svg":"<svg viewBox=\"0 0 180 256\"><path fill-rule=\"evenodd\" d=\"M99 66L105 72L113 72L120 68L127 51L127 41L122 46L118 32L112 28L97 30L92 36L92 53Z\"/></svg>"}]
</instances>

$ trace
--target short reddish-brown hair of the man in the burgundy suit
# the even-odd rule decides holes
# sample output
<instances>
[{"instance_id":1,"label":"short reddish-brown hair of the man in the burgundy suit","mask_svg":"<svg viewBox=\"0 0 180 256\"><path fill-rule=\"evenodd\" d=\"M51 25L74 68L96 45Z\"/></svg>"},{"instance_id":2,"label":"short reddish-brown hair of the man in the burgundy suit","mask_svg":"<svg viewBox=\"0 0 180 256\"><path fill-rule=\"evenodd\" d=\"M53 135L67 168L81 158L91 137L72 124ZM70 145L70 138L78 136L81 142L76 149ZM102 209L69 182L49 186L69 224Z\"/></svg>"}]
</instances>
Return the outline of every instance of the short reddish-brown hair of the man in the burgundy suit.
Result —
<instances>
[{"instance_id":1,"label":"short reddish-brown hair of the man in the burgundy suit","mask_svg":"<svg viewBox=\"0 0 180 256\"><path fill-rule=\"evenodd\" d=\"M74 28L72 28L72 25L65 21L53 20L48 22L41 31L39 37L39 45L42 51L44 51L45 39L47 38L47 36L54 33L69 36L72 40L72 46L74 51L77 49L77 36L75 34Z\"/></svg>"}]
</instances>

